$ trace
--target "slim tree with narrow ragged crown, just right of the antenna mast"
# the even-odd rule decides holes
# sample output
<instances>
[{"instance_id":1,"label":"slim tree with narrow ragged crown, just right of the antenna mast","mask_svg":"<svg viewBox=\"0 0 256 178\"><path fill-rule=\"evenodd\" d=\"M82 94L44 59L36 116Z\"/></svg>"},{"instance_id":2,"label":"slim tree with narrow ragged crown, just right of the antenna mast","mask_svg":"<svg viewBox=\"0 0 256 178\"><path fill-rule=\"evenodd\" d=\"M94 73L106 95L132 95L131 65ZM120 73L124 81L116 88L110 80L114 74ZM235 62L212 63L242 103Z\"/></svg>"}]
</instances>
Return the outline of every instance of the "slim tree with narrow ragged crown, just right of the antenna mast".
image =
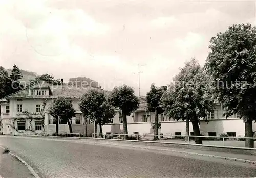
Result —
<instances>
[{"instance_id":1,"label":"slim tree with narrow ragged crown, just right of the antenna mast","mask_svg":"<svg viewBox=\"0 0 256 178\"><path fill-rule=\"evenodd\" d=\"M163 113L164 110L160 107L161 97L166 90L166 87L156 87L155 84L151 84L150 91L146 94L148 110L151 112L155 112L155 130L154 130L154 140L158 139L158 115Z\"/></svg>"}]
</instances>

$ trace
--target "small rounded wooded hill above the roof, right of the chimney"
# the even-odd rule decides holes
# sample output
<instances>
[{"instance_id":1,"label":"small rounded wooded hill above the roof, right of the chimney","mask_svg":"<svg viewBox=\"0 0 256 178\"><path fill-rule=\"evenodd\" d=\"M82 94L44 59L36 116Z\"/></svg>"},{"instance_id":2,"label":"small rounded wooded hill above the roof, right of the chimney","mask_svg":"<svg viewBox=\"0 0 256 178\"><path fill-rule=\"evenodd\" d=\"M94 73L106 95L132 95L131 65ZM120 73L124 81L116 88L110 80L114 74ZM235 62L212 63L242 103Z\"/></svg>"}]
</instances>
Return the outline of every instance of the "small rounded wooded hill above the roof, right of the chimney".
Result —
<instances>
[{"instance_id":1,"label":"small rounded wooded hill above the roof, right of the chimney","mask_svg":"<svg viewBox=\"0 0 256 178\"><path fill-rule=\"evenodd\" d=\"M91 86L91 87L98 87L99 83L86 77L77 77L77 78L70 78L68 85L77 85L77 86Z\"/></svg>"}]
</instances>

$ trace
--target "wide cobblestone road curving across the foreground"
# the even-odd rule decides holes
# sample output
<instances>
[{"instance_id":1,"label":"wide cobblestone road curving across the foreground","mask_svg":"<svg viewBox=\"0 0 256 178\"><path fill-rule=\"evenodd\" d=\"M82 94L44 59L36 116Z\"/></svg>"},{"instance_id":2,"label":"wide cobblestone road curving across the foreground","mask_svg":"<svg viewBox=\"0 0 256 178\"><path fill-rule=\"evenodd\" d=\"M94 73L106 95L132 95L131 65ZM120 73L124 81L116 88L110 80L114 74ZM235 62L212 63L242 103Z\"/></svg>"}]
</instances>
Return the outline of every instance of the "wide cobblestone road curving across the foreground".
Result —
<instances>
[{"instance_id":1,"label":"wide cobblestone road curving across the foreground","mask_svg":"<svg viewBox=\"0 0 256 178\"><path fill-rule=\"evenodd\" d=\"M41 177L256 177L255 165L169 152L22 137L0 145Z\"/></svg>"}]
</instances>

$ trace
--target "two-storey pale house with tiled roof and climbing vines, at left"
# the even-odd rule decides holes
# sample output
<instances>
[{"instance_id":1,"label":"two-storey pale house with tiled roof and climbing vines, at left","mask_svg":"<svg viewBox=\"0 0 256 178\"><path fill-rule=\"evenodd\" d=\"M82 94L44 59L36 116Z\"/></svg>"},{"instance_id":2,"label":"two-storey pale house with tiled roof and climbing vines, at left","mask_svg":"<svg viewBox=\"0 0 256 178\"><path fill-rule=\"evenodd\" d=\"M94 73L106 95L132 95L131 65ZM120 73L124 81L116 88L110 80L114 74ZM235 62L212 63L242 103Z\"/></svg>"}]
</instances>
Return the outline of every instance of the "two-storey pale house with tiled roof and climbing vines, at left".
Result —
<instances>
[{"instance_id":1,"label":"two-storey pale house with tiled roof and climbing vines, at left","mask_svg":"<svg viewBox=\"0 0 256 178\"><path fill-rule=\"evenodd\" d=\"M0 100L1 132L4 135L51 134L56 131L56 120L47 113L49 104L63 97L72 102L76 110L71 124L73 133L84 134L84 122L87 122L87 134L94 132L89 120L85 120L79 110L79 98L90 88L50 85L45 82L25 88ZM69 133L67 122L59 120L59 133Z\"/></svg>"}]
</instances>

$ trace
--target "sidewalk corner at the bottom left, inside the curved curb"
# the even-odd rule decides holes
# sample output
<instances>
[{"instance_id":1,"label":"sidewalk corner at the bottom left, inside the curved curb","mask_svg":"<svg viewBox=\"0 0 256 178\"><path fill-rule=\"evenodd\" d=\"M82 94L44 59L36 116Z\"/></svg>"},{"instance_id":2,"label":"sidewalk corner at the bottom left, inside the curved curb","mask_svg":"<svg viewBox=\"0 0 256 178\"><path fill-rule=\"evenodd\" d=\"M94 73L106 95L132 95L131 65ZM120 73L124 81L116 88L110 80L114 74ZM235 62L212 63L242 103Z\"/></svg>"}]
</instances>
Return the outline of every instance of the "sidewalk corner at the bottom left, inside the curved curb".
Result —
<instances>
[{"instance_id":1,"label":"sidewalk corner at the bottom left, inside the curved curb","mask_svg":"<svg viewBox=\"0 0 256 178\"><path fill-rule=\"evenodd\" d=\"M34 178L27 166L0 149L0 178Z\"/></svg>"}]
</instances>

